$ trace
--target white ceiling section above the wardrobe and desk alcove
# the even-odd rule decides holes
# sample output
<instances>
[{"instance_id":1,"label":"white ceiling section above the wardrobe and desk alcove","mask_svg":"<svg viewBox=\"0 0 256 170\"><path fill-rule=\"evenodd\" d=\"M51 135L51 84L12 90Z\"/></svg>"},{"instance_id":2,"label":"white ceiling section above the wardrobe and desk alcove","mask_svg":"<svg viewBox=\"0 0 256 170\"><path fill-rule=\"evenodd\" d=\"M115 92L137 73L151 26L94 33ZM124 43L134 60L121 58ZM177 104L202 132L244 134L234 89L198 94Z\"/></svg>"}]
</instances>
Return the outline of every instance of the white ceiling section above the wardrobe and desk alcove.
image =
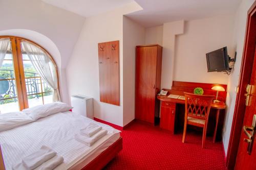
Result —
<instances>
[{"instance_id":1,"label":"white ceiling section above the wardrobe and desk alcove","mask_svg":"<svg viewBox=\"0 0 256 170\"><path fill-rule=\"evenodd\" d=\"M128 14L145 27L234 13L241 0L135 0L143 10Z\"/></svg>"}]
</instances>

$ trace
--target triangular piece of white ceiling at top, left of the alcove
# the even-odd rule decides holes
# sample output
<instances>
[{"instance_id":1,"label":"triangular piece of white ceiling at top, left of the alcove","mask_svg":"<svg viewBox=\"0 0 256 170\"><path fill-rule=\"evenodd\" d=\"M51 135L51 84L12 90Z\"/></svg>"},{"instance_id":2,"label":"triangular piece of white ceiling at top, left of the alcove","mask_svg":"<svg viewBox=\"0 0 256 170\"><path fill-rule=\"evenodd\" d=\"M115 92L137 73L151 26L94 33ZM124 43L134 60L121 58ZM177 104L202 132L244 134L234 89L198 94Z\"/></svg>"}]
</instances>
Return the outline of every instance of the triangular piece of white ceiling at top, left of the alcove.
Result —
<instances>
[{"instance_id":1,"label":"triangular piece of white ceiling at top, left of the alcove","mask_svg":"<svg viewBox=\"0 0 256 170\"><path fill-rule=\"evenodd\" d=\"M111 11L133 0L41 0L58 8L66 9L84 17Z\"/></svg>"}]
</instances>

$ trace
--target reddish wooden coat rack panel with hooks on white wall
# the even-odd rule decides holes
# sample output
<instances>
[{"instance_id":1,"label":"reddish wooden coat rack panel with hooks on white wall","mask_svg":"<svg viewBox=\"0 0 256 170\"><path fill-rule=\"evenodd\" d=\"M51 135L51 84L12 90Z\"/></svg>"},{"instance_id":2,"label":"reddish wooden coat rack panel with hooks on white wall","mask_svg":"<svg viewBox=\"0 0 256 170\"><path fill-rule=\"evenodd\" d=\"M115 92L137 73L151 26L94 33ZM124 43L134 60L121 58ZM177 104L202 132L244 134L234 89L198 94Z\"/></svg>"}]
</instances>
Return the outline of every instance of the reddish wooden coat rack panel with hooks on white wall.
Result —
<instances>
[{"instance_id":1,"label":"reddish wooden coat rack panel with hooks on white wall","mask_svg":"<svg viewBox=\"0 0 256 170\"><path fill-rule=\"evenodd\" d=\"M120 106L119 41L98 43L100 102Z\"/></svg>"}]
</instances>

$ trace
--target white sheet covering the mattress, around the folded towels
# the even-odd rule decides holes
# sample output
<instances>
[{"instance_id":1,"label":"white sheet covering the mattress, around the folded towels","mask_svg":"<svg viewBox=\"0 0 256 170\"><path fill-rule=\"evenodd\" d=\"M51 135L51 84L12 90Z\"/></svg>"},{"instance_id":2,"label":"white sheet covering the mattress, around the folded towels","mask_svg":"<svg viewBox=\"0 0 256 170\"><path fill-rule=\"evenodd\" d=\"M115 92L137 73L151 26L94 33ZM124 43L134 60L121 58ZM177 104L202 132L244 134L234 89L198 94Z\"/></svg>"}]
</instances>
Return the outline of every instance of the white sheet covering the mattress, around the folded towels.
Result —
<instances>
[{"instance_id":1,"label":"white sheet covering the mattress, around the folded towels","mask_svg":"<svg viewBox=\"0 0 256 170\"><path fill-rule=\"evenodd\" d=\"M97 156L94 153L95 151L100 154L99 152L108 148L106 145L111 145L119 138L120 131L108 125L94 122L108 130L108 134L91 147L88 147L76 141L74 135L90 122L94 122L94 120L68 111L0 132L0 144L6 170L11 169L11 166L24 156L37 151L41 145L47 145L64 158L64 162L56 169L68 169L71 166L75 167L75 164L81 162L81 160L88 159L86 162L92 160L92 155L94 155L94 158Z\"/></svg>"}]
</instances>

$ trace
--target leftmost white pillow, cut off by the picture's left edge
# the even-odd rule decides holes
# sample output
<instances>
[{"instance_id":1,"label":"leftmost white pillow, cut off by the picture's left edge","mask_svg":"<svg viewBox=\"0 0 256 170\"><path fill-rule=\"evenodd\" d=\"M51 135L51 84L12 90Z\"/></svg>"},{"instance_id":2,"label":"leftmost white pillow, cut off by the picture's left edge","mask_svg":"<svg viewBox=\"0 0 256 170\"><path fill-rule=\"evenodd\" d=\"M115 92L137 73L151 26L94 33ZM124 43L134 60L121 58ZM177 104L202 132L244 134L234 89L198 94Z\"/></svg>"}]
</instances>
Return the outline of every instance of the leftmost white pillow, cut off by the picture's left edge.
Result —
<instances>
[{"instance_id":1,"label":"leftmost white pillow, cut off by the picture's left edge","mask_svg":"<svg viewBox=\"0 0 256 170\"><path fill-rule=\"evenodd\" d=\"M34 122L31 117L23 112L10 112L0 114L0 132L6 131L12 128L16 128L31 122Z\"/></svg>"}]
</instances>

